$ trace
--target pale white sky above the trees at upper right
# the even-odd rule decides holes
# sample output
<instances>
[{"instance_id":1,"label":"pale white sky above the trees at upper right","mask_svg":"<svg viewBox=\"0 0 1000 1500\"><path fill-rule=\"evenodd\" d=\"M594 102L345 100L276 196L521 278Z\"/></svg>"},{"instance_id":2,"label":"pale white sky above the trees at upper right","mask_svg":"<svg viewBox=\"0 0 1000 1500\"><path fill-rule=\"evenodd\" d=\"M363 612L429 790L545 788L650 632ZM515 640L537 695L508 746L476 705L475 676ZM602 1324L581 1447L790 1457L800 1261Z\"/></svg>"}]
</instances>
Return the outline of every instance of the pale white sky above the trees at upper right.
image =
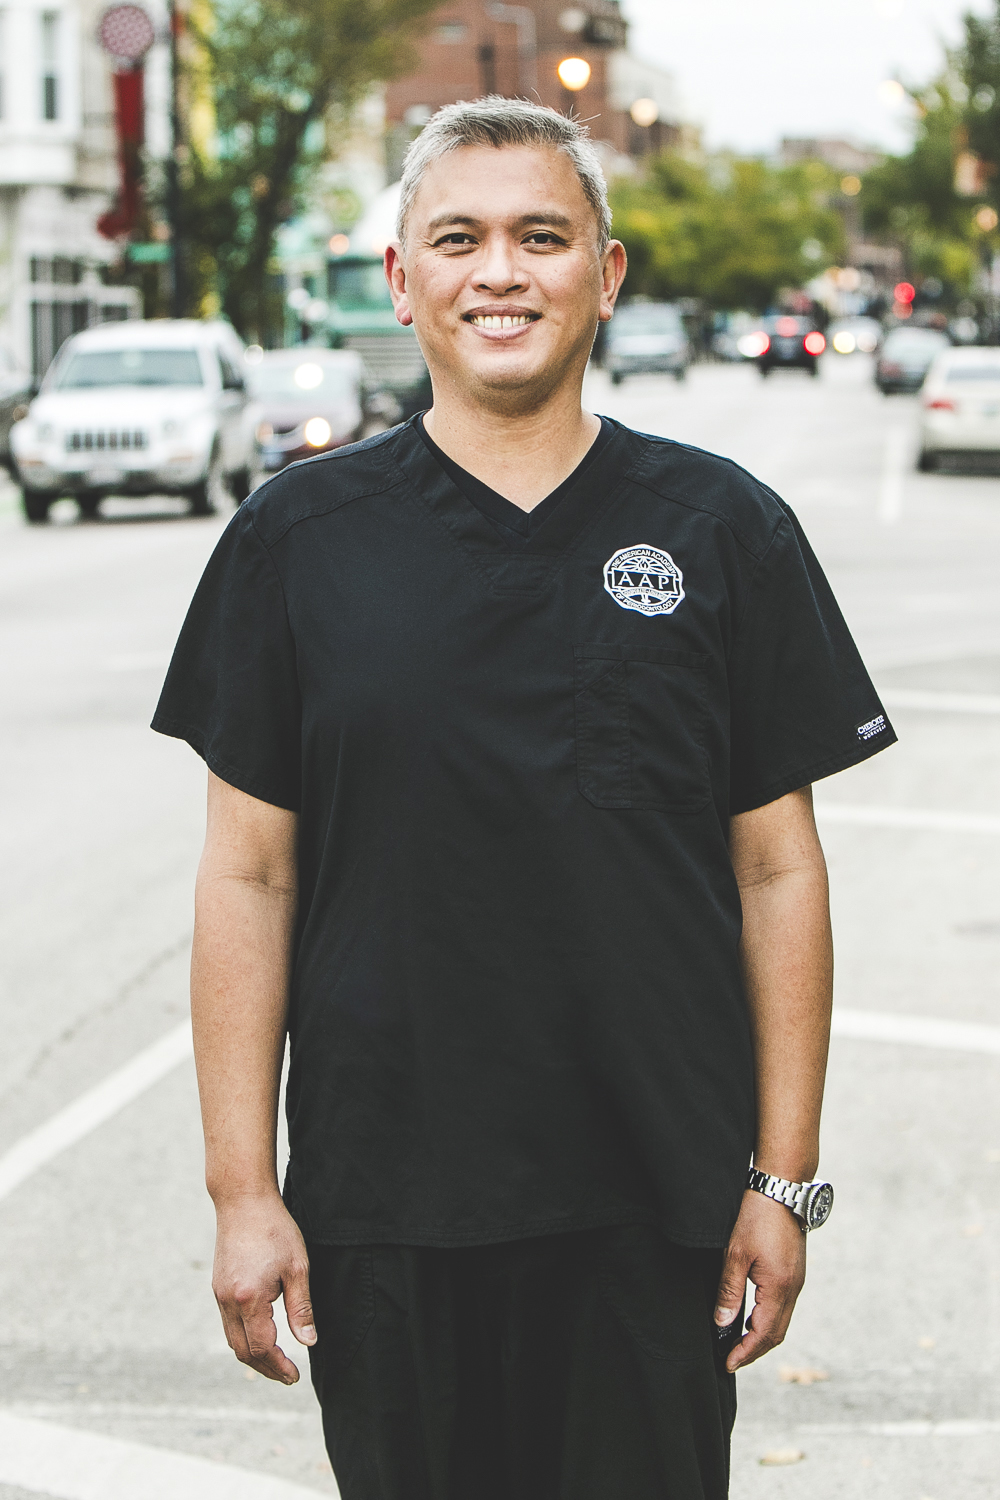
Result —
<instances>
[{"instance_id":1,"label":"pale white sky above the trees at upper right","mask_svg":"<svg viewBox=\"0 0 1000 1500\"><path fill-rule=\"evenodd\" d=\"M924 82L966 10L991 0L622 0L630 51L676 76L705 144L772 152L783 135L904 152L909 106L880 84Z\"/></svg>"}]
</instances>

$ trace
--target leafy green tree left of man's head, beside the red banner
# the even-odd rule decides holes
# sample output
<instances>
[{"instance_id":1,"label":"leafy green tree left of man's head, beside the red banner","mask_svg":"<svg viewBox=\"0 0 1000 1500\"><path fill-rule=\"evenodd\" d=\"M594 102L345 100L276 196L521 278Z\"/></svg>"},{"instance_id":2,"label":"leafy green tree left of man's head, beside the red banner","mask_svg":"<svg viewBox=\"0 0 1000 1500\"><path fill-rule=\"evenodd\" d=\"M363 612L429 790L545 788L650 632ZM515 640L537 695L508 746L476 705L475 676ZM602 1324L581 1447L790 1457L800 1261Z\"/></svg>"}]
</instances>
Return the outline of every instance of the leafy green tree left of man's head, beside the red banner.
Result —
<instances>
[{"instance_id":1,"label":"leafy green tree left of man's head, beside the red banner","mask_svg":"<svg viewBox=\"0 0 1000 1500\"><path fill-rule=\"evenodd\" d=\"M373 82L414 63L439 0L216 0L196 42L214 111L190 141L180 236L195 310L208 288L246 336L280 316L268 290L274 234Z\"/></svg>"}]
</instances>

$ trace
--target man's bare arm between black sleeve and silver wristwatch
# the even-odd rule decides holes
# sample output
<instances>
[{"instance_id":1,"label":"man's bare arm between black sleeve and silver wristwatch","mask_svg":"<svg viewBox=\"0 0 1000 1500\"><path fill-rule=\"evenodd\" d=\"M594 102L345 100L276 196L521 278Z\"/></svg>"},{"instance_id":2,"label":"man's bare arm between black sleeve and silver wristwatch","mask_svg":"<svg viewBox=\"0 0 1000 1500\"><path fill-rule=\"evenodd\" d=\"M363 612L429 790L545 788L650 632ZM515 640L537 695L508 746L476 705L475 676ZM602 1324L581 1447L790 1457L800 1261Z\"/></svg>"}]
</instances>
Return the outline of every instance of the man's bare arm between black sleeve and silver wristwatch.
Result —
<instances>
[{"instance_id":1,"label":"man's bare arm between black sleeve and silver wristwatch","mask_svg":"<svg viewBox=\"0 0 1000 1500\"><path fill-rule=\"evenodd\" d=\"M780 856L769 858L753 837L744 837L735 840L735 866L757 1088L754 1161L765 1172L804 1182L819 1167L834 952L811 796L807 789L784 801L789 824Z\"/></svg>"}]
</instances>

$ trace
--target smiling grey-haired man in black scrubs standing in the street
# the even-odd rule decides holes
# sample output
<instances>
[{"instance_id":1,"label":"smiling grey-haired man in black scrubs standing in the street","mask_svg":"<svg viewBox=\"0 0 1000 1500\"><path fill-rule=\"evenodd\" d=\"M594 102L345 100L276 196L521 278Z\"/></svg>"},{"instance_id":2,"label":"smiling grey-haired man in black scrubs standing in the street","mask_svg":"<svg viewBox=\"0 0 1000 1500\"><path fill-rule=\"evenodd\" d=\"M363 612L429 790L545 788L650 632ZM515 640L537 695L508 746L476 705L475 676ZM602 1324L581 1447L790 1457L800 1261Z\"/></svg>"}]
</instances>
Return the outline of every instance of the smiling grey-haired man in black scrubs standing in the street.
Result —
<instances>
[{"instance_id":1,"label":"smiling grey-haired man in black scrubs standing in the street","mask_svg":"<svg viewBox=\"0 0 1000 1500\"><path fill-rule=\"evenodd\" d=\"M210 768L214 1290L291 1383L283 1294L345 1500L721 1500L829 1208L810 783L895 736L781 501L582 410L609 225L573 122L435 116L433 406L243 506L154 720Z\"/></svg>"}]
</instances>

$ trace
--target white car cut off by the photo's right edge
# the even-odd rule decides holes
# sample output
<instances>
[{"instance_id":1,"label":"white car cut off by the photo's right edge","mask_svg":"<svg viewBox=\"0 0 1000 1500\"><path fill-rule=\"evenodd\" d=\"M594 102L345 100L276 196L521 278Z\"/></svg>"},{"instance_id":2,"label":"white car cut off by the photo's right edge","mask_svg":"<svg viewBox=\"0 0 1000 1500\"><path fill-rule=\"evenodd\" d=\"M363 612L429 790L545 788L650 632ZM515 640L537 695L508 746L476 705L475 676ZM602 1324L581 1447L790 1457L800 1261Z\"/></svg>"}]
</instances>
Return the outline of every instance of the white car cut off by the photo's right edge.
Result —
<instances>
[{"instance_id":1,"label":"white car cut off by the photo's right edge","mask_svg":"<svg viewBox=\"0 0 1000 1500\"><path fill-rule=\"evenodd\" d=\"M924 380L918 468L1000 453L1000 350L945 350Z\"/></svg>"}]
</instances>

